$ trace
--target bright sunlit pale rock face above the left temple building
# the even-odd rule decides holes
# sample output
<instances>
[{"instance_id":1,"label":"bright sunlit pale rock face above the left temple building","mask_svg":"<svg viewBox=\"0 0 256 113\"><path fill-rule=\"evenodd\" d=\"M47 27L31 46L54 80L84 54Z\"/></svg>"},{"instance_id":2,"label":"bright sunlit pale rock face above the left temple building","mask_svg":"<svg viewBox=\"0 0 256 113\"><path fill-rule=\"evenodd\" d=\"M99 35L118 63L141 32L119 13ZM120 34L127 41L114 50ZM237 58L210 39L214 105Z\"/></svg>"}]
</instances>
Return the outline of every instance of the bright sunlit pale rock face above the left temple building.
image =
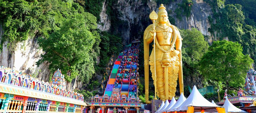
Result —
<instances>
[{"instance_id":1,"label":"bright sunlit pale rock face above the left temple building","mask_svg":"<svg viewBox=\"0 0 256 113\"><path fill-rule=\"evenodd\" d=\"M0 31L0 38L2 38L3 30L1 26ZM48 69L49 64L44 62L38 67L36 65L40 55L43 53L41 49L38 49L37 38L29 38L24 42L16 44L16 48L12 49L12 51L7 48L6 42L0 54L0 65L13 68L22 73L34 74L40 81L48 81L50 73Z\"/></svg>"}]
</instances>

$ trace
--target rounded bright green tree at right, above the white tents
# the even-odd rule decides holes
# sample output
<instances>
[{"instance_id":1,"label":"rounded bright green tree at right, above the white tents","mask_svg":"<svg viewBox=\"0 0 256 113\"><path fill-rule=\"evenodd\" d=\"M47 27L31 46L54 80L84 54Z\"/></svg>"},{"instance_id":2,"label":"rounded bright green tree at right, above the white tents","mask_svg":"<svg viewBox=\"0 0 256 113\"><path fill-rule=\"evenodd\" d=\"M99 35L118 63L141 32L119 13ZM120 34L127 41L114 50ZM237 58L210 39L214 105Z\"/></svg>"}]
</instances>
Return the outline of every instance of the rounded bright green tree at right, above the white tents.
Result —
<instances>
[{"instance_id":1,"label":"rounded bright green tree at right, above the white tents","mask_svg":"<svg viewBox=\"0 0 256 113\"><path fill-rule=\"evenodd\" d=\"M244 84L245 70L253 63L249 55L242 54L241 44L231 41L214 41L199 62L205 79L219 81L226 89Z\"/></svg>"}]
</instances>

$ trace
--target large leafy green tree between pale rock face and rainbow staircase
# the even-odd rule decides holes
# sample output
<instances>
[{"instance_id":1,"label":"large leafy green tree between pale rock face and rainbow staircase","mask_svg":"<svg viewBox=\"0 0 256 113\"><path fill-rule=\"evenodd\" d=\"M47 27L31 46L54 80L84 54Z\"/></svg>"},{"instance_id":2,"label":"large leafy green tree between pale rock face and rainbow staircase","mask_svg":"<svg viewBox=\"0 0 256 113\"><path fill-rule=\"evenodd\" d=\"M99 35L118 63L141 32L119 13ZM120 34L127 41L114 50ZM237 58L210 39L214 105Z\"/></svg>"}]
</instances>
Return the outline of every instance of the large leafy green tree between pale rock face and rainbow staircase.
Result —
<instances>
[{"instance_id":1,"label":"large leafy green tree between pale rock face and rainbow staircase","mask_svg":"<svg viewBox=\"0 0 256 113\"><path fill-rule=\"evenodd\" d=\"M42 54L37 65L48 61L49 69L60 68L67 73L67 81L71 81L79 74L79 70L86 68L89 76L94 74L94 58L98 53L94 47L100 42L96 30L96 17L90 13L76 13L63 20L59 30L41 37L38 44L45 54ZM96 48L97 49L97 48ZM87 64L87 66L84 66ZM88 75L81 75L88 76Z\"/></svg>"}]
</instances>

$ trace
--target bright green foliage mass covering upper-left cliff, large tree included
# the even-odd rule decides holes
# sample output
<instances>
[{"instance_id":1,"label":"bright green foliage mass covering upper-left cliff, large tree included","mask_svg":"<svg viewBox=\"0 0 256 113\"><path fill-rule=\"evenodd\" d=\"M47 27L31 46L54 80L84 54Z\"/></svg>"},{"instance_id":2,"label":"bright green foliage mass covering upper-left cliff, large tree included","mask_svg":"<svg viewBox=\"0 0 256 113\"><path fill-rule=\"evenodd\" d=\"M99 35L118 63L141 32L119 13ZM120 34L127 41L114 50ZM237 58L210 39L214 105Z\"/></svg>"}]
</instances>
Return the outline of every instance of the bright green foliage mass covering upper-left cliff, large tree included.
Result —
<instances>
[{"instance_id":1,"label":"bright green foliage mass covering upper-left cliff, large tree included","mask_svg":"<svg viewBox=\"0 0 256 113\"><path fill-rule=\"evenodd\" d=\"M49 62L51 73L60 68L69 75L67 81L78 74L82 81L89 81L99 55L100 36L96 18L82 6L61 0L1 0L0 10L4 30L1 51L5 41L14 51L18 42L39 37L38 44L46 54L38 65Z\"/></svg>"}]
</instances>

